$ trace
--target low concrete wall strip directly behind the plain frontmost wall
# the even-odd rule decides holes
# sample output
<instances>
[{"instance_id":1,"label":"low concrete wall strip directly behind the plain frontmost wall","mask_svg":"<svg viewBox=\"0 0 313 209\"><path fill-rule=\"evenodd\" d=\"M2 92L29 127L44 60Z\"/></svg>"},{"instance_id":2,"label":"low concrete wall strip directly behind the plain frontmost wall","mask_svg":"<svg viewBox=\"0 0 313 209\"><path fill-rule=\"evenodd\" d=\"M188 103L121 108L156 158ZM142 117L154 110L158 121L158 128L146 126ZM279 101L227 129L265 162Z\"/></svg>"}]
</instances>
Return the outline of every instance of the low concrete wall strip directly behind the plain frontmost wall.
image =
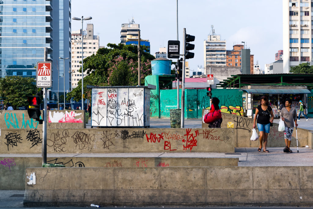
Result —
<instances>
[{"instance_id":1,"label":"low concrete wall strip directly behind the plain frontmost wall","mask_svg":"<svg viewBox=\"0 0 313 209\"><path fill-rule=\"evenodd\" d=\"M1 157L0 190L24 190L28 167L41 167L42 157ZM238 166L239 158L185 157L47 157L66 167Z\"/></svg>"}]
</instances>

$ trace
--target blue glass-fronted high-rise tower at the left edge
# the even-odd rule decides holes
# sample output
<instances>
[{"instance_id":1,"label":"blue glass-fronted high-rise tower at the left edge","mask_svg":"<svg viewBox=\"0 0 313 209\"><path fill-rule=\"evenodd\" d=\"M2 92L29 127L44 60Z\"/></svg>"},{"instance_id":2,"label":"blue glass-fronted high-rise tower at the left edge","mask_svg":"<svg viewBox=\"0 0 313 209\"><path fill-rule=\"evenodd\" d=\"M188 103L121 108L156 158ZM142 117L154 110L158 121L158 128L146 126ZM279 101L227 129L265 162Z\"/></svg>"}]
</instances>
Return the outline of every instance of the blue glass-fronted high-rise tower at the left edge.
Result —
<instances>
[{"instance_id":1,"label":"blue glass-fronted high-rise tower at the left edge","mask_svg":"<svg viewBox=\"0 0 313 209\"><path fill-rule=\"evenodd\" d=\"M52 87L49 100L69 89L71 1L5 0L0 1L0 77L20 75L36 78L35 66L52 61ZM65 76L65 79L64 79ZM64 86L65 80L65 89ZM49 101L48 101L49 102Z\"/></svg>"}]
</instances>

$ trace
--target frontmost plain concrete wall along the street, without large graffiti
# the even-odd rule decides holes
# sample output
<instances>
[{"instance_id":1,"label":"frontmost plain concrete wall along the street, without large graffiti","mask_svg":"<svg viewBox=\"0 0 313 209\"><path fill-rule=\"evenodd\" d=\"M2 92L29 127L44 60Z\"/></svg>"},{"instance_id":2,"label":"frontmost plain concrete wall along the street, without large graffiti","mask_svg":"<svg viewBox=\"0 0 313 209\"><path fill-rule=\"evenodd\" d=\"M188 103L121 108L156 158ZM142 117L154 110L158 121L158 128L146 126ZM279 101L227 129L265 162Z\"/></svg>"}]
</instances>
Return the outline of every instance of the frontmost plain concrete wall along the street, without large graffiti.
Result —
<instances>
[{"instance_id":1,"label":"frontmost plain concrete wall along the street, without large graffiti","mask_svg":"<svg viewBox=\"0 0 313 209\"><path fill-rule=\"evenodd\" d=\"M312 166L27 168L24 206L312 206L312 173Z\"/></svg>"}]
</instances>

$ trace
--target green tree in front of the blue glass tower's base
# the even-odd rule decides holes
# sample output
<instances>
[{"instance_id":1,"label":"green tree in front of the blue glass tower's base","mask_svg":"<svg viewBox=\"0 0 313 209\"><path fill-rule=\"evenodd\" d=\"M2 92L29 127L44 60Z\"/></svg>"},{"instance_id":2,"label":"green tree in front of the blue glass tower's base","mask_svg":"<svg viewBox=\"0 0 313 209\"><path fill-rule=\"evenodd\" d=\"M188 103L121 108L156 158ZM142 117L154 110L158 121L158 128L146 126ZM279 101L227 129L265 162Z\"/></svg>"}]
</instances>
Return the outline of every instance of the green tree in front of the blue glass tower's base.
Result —
<instances>
[{"instance_id":1,"label":"green tree in front of the blue glass tower's base","mask_svg":"<svg viewBox=\"0 0 313 209\"><path fill-rule=\"evenodd\" d=\"M0 78L0 97L7 98L5 102L10 102L12 106L27 106L27 96L37 93L34 84L35 79L22 76L6 76ZM23 85L23 88L20 86Z\"/></svg>"}]
</instances>

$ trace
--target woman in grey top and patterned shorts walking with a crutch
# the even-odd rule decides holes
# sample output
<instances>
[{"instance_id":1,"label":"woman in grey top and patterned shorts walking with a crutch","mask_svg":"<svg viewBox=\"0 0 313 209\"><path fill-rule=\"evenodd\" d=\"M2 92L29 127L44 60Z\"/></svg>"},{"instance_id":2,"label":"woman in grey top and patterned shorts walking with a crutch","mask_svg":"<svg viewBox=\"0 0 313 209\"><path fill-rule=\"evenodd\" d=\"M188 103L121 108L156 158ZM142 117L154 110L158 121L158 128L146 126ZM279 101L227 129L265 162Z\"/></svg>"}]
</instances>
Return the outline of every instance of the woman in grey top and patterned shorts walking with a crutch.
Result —
<instances>
[{"instance_id":1,"label":"woman in grey top and patterned shorts walking with a crutch","mask_svg":"<svg viewBox=\"0 0 313 209\"><path fill-rule=\"evenodd\" d=\"M286 99L285 107L280 112L280 118L284 121L285 124L285 144L286 149L289 150L289 152L292 152L290 150L290 143L291 143L291 135L294 130L294 127L297 127L297 110L294 107L291 107L292 100ZM294 126L295 121L295 126Z\"/></svg>"}]
</instances>

